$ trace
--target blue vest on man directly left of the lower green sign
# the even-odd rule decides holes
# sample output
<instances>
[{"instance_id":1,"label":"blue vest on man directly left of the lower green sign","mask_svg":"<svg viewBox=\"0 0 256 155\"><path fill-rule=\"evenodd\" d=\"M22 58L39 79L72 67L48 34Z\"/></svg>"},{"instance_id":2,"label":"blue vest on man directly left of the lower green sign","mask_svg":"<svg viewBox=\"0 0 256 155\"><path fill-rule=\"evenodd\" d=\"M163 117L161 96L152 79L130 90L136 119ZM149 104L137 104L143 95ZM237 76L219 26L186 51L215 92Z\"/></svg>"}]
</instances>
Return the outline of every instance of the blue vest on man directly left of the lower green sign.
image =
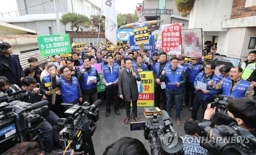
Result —
<instances>
[{"instance_id":1,"label":"blue vest on man directly left of the lower green sign","mask_svg":"<svg viewBox=\"0 0 256 155\"><path fill-rule=\"evenodd\" d=\"M97 86L97 83L92 83L90 85L87 85L88 76L96 76L96 69L94 67L91 67L91 68L92 70L90 73L88 73L88 71L84 71L83 73L83 79L81 83L82 90L90 90L92 87L95 88ZM82 71L82 69L84 68L81 68L80 72Z\"/></svg>"}]
</instances>

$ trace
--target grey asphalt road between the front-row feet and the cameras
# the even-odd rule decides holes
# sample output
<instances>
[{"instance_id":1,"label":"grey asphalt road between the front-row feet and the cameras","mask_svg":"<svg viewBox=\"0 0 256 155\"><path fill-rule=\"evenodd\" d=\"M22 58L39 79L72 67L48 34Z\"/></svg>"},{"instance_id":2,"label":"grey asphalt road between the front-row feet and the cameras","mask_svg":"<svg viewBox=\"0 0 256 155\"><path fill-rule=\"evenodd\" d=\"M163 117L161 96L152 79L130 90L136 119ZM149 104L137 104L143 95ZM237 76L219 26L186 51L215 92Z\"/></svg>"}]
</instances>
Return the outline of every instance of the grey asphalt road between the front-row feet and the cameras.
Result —
<instances>
[{"instance_id":1,"label":"grey asphalt road between the front-row feet and the cameras","mask_svg":"<svg viewBox=\"0 0 256 155\"><path fill-rule=\"evenodd\" d=\"M97 129L92 137L95 153L97 155L102 154L106 148L106 146L114 143L121 137L132 137L139 139L146 147L148 152L150 153L150 143L148 140L144 138L143 130L131 131L130 124L124 124L123 120L126 117L125 107L124 105L119 106L119 111L121 116L117 116L114 112L113 105L111 106L111 114L108 118L105 117L105 103L103 102L99 106L99 112L101 118L97 121ZM173 128L178 132L178 136L185 135L184 131L184 123L187 119L190 118L191 112L188 109L188 106L183 107L183 113L181 113L181 126L177 126L175 122L175 108L172 110L173 118L171 119L173 122ZM131 110L132 112L132 110ZM133 117L131 117L133 118ZM143 114L143 107L138 107L138 118L141 121L148 121L148 118L145 118ZM202 118L202 109L200 108L198 113L198 120ZM132 119L132 121L134 121ZM151 153L150 153L151 154Z\"/></svg>"}]
</instances>

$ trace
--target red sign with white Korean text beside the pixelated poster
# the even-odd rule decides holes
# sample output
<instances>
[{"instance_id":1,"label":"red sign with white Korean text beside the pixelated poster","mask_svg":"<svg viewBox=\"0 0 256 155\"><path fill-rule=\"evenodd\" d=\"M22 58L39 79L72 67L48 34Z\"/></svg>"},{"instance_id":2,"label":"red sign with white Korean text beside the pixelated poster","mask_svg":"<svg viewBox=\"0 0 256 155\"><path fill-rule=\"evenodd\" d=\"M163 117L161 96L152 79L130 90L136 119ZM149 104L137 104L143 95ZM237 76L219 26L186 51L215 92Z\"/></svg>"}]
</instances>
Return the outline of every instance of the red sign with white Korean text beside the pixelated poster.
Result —
<instances>
[{"instance_id":1,"label":"red sign with white Korean text beside the pixelated poster","mask_svg":"<svg viewBox=\"0 0 256 155\"><path fill-rule=\"evenodd\" d=\"M182 24L172 24L162 30L162 51L169 54L181 54Z\"/></svg>"}]
</instances>

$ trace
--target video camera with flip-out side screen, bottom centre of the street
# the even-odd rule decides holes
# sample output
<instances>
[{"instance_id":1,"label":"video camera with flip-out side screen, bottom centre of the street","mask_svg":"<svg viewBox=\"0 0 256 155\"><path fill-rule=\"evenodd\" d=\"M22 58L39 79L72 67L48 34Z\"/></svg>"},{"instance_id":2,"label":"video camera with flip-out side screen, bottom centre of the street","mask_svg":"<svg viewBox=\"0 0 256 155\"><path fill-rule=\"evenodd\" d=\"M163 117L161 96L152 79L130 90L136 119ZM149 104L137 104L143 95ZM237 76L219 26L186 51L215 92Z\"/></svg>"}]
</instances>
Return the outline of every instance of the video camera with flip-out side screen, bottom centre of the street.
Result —
<instances>
[{"instance_id":1,"label":"video camera with flip-out side screen, bottom centre of the street","mask_svg":"<svg viewBox=\"0 0 256 155\"><path fill-rule=\"evenodd\" d=\"M162 110L162 116L154 113L149 122L132 122L130 127L131 130L144 130L144 137L150 141L153 155L184 153L182 139L173 129L173 124L165 110Z\"/></svg>"}]
</instances>

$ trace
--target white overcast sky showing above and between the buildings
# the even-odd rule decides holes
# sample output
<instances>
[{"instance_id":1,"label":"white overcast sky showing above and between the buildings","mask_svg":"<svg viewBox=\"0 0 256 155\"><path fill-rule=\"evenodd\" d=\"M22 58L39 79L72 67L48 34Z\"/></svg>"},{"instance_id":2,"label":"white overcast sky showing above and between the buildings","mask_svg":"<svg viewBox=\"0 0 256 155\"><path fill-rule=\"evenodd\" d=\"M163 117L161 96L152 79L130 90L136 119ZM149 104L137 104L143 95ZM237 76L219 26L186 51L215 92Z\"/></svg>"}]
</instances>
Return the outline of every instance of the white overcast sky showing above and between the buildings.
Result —
<instances>
[{"instance_id":1,"label":"white overcast sky showing above and between the buildings","mask_svg":"<svg viewBox=\"0 0 256 155\"><path fill-rule=\"evenodd\" d=\"M4 1L4 0L0 0ZM116 11L117 13L134 13L137 3L142 3L143 0L116 0ZM102 6L102 0L94 0L94 3L97 3L98 6ZM17 11L16 0L7 0L4 4L0 5L0 12L11 12ZM13 13L14 14L14 13ZM7 15L5 15L7 16ZM14 16L14 15L12 15Z\"/></svg>"}]
</instances>

